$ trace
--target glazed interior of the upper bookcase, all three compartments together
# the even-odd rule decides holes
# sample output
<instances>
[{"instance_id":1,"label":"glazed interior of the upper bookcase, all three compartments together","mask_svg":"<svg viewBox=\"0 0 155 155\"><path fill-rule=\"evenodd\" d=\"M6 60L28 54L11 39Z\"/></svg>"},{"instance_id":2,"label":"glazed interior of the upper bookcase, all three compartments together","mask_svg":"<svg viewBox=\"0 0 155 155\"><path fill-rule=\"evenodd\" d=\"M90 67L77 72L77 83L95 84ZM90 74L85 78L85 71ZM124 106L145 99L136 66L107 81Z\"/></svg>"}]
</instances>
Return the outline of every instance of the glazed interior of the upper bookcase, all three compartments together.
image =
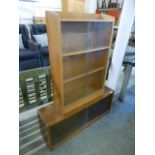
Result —
<instances>
[{"instance_id":1,"label":"glazed interior of the upper bookcase, all three compartments together","mask_svg":"<svg viewBox=\"0 0 155 155\"><path fill-rule=\"evenodd\" d=\"M112 23L62 22L61 29L67 106L103 89Z\"/></svg>"}]
</instances>

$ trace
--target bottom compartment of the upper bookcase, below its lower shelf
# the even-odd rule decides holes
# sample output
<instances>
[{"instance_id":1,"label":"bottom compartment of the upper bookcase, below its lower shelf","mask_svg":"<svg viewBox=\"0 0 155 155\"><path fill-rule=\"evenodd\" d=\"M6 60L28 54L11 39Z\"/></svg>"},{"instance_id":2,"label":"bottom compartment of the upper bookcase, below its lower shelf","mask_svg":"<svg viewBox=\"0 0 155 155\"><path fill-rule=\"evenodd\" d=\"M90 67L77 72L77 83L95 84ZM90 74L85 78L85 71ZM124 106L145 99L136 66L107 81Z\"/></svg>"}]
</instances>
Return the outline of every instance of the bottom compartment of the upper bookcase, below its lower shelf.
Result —
<instances>
[{"instance_id":1,"label":"bottom compartment of the upper bookcase, below its lower shelf","mask_svg":"<svg viewBox=\"0 0 155 155\"><path fill-rule=\"evenodd\" d=\"M71 80L64 84L64 105L74 103L88 95L103 89L103 79L105 70L99 70L91 74L86 74L76 80Z\"/></svg>"}]
</instances>

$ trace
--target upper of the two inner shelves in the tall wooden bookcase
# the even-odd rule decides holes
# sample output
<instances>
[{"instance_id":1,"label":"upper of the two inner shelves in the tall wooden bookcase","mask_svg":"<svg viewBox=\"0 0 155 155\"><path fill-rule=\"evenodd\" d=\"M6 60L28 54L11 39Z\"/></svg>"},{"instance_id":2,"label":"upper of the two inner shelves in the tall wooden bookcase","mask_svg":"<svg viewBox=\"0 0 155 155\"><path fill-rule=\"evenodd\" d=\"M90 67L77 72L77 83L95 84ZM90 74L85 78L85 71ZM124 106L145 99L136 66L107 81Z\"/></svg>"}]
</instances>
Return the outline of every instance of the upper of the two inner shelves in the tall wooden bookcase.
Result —
<instances>
[{"instance_id":1,"label":"upper of the two inner shelves in the tall wooden bookcase","mask_svg":"<svg viewBox=\"0 0 155 155\"><path fill-rule=\"evenodd\" d=\"M75 52L65 52L65 54L63 54L63 57L74 56L74 55L79 55L79 54L86 54L86 53L91 53L91 52L97 52L97 51L106 50L106 49L109 49L109 46L93 48L93 49L77 51L77 52L76 51Z\"/></svg>"}]
</instances>

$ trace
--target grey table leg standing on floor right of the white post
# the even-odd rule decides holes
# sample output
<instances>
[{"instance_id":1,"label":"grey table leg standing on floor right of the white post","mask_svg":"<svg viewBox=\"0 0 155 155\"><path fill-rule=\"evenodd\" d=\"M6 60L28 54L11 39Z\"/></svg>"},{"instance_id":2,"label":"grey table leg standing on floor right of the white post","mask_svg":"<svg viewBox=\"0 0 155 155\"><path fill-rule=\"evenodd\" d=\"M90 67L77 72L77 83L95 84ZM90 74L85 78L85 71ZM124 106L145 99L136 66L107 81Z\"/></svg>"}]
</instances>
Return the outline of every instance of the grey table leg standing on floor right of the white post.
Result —
<instances>
[{"instance_id":1,"label":"grey table leg standing on floor right of the white post","mask_svg":"<svg viewBox=\"0 0 155 155\"><path fill-rule=\"evenodd\" d=\"M133 66L131 64L127 64L125 65L125 68L124 68L124 79L123 79L122 88L121 88L120 95L119 95L119 101L121 102L124 100L124 97L125 97L126 89L127 89L129 78L130 78L131 71L132 71L132 67Z\"/></svg>"}]
</instances>

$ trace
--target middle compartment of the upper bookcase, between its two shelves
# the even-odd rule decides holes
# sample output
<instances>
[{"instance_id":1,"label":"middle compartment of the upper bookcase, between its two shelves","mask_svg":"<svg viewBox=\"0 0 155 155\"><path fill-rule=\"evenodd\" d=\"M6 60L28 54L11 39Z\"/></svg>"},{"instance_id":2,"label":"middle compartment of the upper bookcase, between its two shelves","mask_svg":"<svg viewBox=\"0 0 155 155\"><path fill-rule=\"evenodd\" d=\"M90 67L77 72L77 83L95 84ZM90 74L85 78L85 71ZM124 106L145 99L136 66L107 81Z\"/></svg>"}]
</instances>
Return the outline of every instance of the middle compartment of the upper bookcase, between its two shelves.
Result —
<instances>
[{"instance_id":1,"label":"middle compartment of the upper bookcase, between its two shelves","mask_svg":"<svg viewBox=\"0 0 155 155\"><path fill-rule=\"evenodd\" d=\"M108 50L67 56L63 58L64 83L105 69Z\"/></svg>"}]
</instances>

